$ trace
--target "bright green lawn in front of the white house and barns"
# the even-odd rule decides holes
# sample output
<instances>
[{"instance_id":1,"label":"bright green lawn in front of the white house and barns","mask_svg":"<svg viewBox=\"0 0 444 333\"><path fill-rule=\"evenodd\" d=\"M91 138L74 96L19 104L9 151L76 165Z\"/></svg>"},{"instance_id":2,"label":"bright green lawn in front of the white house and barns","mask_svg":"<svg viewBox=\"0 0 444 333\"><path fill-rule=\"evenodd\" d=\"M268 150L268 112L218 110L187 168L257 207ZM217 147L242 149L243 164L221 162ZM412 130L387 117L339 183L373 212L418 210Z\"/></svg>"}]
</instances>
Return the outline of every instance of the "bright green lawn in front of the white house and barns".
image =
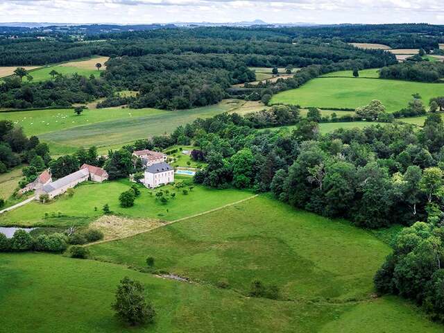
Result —
<instances>
[{"instance_id":1,"label":"bright green lawn in front of the white house and barns","mask_svg":"<svg viewBox=\"0 0 444 333\"><path fill-rule=\"evenodd\" d=\"M176 182L182 181L177 178ZM252 196L248 191L235 189L210 189L195 186L189 194L182 194L182 189L173 189L171 185L164 187L176 192L176 198L162 204L156 200L153 191L140 186L141 195L136 198L135 205L130 208L119 206L119 195L130 186L128 180L113 182L87 183L76 187L72 197L66 194L51 203L28 203L22 207L0 215L0 225L38 225L67 227L71 224L85 225L101 216L105 203L110 205L115 214L133 218L155 218L173 221L185 216L191 216L207 210L212 210L228 203L233 203ZM185 187L188 189L188 187ZM97 207L97 211L94 210ZM59 217L60 212L60 217ZM45 213L48 216L45 218Z\"/></svg>"}]
</instances>

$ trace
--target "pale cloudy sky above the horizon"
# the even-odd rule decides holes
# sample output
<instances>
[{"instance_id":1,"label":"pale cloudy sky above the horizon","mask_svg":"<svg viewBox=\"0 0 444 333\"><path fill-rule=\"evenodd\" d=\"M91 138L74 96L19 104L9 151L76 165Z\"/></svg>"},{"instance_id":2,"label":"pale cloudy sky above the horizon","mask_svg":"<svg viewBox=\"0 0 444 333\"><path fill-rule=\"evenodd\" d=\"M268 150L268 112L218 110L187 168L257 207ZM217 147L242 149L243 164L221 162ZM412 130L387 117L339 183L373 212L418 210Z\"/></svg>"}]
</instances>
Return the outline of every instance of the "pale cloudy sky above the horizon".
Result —
<instances>
[{"instance_id":1,"label":"pale cloudy sky above the horizon","mask_svg":"<svg viewBox=\"0 0 444 333\"><path fill-rule=\"evenodd\" d=\"M444 24L443 0L0 0L0 22Z\"/></svg>"}]
</instances>

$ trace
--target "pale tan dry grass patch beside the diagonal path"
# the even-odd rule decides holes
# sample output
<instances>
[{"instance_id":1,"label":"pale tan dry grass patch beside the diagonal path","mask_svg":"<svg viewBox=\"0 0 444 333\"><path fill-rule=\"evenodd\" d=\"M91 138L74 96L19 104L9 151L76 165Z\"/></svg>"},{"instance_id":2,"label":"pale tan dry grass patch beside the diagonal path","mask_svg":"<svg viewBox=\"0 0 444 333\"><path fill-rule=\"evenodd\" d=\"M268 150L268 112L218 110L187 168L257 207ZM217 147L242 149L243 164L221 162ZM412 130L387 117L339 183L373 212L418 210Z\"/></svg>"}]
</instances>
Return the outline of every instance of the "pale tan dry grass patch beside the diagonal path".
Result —
<instances>
[{"instance_id":1,"label":"pale tan dry grass patch beside the diagonal path","mask_svg":"<svg viewBox=\"0 0 444 333\"><path fill-rule=\"evenodd\" d=\"M156 219L128 219L126 217L103 215L89 226L103 232L103 241L120 239L147 232L164 225Z\"/></svg>"}]
</instances>

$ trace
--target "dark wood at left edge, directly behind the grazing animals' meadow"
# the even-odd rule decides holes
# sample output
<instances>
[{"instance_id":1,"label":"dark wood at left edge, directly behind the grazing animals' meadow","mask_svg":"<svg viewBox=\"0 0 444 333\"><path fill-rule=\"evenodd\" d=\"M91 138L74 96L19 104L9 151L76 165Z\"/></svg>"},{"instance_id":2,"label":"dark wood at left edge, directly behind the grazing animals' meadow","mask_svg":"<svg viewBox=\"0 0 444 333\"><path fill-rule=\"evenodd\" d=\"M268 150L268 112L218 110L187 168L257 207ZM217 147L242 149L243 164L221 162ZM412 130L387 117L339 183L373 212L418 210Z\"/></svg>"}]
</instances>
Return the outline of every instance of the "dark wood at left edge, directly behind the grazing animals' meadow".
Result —
<instances>
[{"instance_id":1,"label":"dark wood at left edge, directly behind the grazing animals' meadow","mask_svg":"<svg viewBox=\"0 0 444 333\"><path fill-rule=\"evenodd\" d=\"M58 74L52 80L25 82L19 76L3 79L0 84L0 108L68 107L73 103L87 103L112 94L112 87L101 78L85 78L74 74Z\"/></svg>"}]
</instances>

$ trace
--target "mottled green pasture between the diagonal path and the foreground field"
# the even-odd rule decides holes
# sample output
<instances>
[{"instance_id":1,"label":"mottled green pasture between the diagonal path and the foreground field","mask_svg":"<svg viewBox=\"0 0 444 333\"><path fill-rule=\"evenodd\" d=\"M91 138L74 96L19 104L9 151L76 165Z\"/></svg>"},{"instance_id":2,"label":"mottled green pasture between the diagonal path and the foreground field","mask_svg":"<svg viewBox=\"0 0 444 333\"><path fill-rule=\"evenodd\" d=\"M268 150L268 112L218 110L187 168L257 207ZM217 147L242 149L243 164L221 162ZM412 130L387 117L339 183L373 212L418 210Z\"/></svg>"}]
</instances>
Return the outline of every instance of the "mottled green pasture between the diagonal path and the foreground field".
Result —
<instances>
[{"instance_id":1,"label":"mottled green pasture between the diagonal path and the foreground field","mask_svg":"<svg viewBox=\"0 0 444 333\"><path fill-rule=\"evenodd\" d=\"M132 266L153 255L158 269L212 284L225 278L244 293L258 278L292 300L347 300L373 292L373 273L389 248L344 221L260 196L92 251Z\"/></svg>"}]
</instances>

